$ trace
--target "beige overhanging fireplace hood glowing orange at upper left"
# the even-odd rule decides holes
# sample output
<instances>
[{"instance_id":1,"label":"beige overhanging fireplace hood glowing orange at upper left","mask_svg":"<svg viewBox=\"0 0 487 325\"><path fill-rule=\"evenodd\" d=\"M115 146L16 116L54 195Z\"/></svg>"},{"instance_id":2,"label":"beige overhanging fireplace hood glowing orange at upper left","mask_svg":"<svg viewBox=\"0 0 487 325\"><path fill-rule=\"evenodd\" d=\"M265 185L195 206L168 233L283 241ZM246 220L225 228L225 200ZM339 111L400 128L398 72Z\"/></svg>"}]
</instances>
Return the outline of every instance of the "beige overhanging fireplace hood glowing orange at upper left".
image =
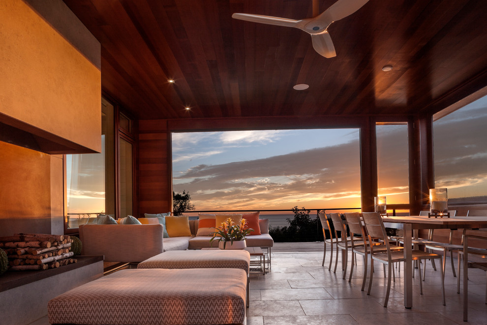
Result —
<instances>
[{"instance_id":1,"label":"beige overhanging fireplace hood glowing orange at upper left","mask_svg":"<svg viewBox=\"0 0 487 325\"><path fill-rule=\"evenodd\" d=\"M21 0L0 1L0 44L0 122L62 143L49 153L101 151L98 67Z\"/></svg>"}]
</instances>

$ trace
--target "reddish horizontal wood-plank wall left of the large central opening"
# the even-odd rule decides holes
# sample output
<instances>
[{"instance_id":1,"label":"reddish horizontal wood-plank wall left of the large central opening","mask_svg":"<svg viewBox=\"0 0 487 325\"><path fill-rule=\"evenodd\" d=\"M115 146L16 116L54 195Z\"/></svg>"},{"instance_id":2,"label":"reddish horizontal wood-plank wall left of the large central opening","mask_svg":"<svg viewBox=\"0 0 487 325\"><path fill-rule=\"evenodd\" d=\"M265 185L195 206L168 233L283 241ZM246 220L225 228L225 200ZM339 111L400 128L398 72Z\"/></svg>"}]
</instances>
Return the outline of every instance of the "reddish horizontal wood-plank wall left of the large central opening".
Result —
<instances>
[{"instance_id":1,"label":"reddish horizontal wood-plank wall left of the large central opening","mask_svg":"<svg viewBox=\"0 0 487 325\"><path fill-rule=\"evenodd\" d=\"M139 121L137 172L139 215L172 211L171 133L167 121Z\"/></svg>"}]
</instances>

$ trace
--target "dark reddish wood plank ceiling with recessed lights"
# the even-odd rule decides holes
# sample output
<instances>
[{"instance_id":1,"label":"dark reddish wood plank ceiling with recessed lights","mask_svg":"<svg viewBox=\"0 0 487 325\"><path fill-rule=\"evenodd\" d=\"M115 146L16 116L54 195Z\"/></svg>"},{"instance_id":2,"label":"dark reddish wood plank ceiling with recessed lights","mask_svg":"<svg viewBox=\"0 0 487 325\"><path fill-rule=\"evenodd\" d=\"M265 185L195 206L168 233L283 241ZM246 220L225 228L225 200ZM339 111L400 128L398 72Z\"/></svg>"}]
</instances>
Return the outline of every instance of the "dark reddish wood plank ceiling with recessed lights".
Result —
<instances>
[{"instance_id":1,"label":"dark reddish wood plank ceiling with recessed lights","mask_svg":"<svg viewBox=\"0 0 487 325\"><path fill-rule=\"evenodd\" d=\"M487 85L484 0L370 0L329 27L334 58L231 18L306 18L311 0L64 2L101 42L103 90L139 119L436 112Z\"/></svg>"}]
</instances>

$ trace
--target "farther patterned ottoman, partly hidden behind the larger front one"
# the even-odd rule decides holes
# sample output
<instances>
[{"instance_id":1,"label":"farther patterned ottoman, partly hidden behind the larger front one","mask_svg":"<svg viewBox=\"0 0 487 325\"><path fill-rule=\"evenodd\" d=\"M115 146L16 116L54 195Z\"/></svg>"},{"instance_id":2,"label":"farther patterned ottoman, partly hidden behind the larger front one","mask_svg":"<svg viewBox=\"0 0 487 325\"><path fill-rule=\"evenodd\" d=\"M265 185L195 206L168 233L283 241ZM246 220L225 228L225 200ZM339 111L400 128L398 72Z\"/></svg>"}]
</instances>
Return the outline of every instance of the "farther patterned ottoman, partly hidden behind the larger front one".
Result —
<instances>
[{"instance_id":1,"label":"farther patterned ottoman, partly hidden behind the larger front one","mask_svg":"<svg viewBox=\"0 0 487 325\"><path fill-rule=\"evenodd\" d=\"M250 253L240 249L170 250L155 255L137 269L242 269L248 273Z\"/></svg>"}]
</instances>

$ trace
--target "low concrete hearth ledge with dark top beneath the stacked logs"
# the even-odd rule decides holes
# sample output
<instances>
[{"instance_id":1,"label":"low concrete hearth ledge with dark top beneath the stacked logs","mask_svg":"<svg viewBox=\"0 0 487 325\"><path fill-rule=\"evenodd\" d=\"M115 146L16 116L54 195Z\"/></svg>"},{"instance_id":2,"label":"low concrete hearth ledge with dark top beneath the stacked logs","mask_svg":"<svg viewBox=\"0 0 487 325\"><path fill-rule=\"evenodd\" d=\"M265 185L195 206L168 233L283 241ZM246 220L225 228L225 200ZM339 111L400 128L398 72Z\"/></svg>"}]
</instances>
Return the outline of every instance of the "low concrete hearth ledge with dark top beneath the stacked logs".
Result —
<instances>
[{"instance_id":1,"label":"low concrete hearth ledge with dark top beneath the stacked logs","mask_svg":"<svg viewBox=\"0 0 487 325\"><path fill-rule=\"evenodd\" d=\"M0 275L1 324L30 324L47 315L47 303L103 276L103 256L76 256L57 269L7 271Z\"/></svg>"}]
</instances>

